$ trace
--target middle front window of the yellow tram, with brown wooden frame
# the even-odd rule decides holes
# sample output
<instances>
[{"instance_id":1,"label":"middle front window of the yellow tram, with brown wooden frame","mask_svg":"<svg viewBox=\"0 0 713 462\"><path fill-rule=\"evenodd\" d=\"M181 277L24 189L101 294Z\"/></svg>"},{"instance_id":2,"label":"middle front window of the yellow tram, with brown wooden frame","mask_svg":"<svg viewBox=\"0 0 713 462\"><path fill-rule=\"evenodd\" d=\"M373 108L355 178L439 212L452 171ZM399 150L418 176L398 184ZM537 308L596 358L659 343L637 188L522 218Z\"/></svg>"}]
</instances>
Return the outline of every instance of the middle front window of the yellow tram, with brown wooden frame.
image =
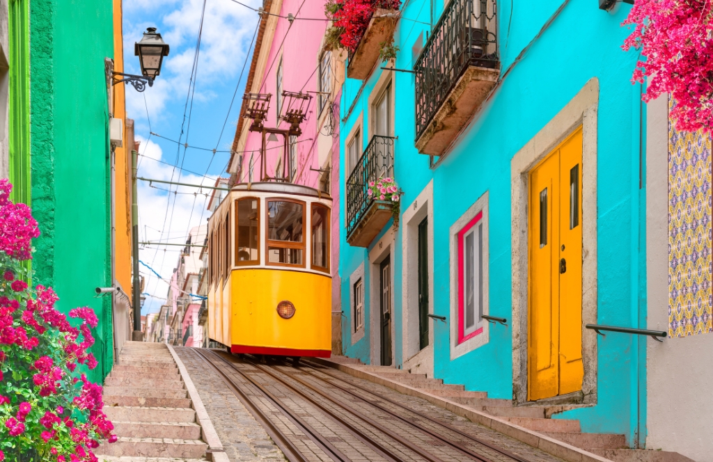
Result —
<instances>
[{"instance_id":1,"label":"middle front window of the yellow tram, with brown wooden frame","mask_svg":"<svg viewBox=\"0 0 713 462\"><path fill-rule=\"evenodd\" d=\"M304 203L267 202L267 262L304 266Z\"/></svg>"}]
</instances>

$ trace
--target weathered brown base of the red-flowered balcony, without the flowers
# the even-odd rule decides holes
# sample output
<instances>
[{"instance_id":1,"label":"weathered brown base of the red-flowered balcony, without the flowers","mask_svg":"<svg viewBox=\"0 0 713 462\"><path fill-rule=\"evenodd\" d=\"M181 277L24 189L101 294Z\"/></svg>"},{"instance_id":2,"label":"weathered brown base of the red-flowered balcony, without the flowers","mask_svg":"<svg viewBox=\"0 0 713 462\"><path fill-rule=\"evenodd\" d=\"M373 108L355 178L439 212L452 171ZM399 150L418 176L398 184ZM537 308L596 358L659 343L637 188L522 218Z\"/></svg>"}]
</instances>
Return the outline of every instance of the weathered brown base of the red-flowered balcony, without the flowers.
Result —
<instances>
[{"instance_id":1,"label":"weathered brown base of the red-flowered balcony, without the flowers","mask_svg":"<svg viewBox=\"0 0 713 462\"><path fill-rule=\"evenodd\" d=\"M398 9L391 9L392 0L376 1L374 16L371 16L369 26L364 29L359 38L359 45L354 51L349 50L349 66L347 76L364 80L369 77L371 69L379 60L381 43L388 42L394 34Z\"/></svg>"}]
</instances>

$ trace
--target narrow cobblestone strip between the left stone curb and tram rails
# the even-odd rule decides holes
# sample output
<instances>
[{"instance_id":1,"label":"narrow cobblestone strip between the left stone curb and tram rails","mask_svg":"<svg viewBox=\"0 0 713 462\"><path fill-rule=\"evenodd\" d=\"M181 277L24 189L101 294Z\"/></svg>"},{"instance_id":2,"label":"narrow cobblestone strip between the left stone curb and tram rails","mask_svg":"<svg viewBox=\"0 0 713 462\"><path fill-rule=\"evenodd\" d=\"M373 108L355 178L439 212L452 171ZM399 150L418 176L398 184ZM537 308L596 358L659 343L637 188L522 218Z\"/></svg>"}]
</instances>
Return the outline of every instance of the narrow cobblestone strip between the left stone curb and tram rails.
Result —
<instances>
[{"instance_id":1,"label":"narrow cobblestone strip between the left stone curb and tram rails","mask_svg":"<svg viewBox=\"0 0 713 462\"><path fill-rule=\"evenodd\" d=\"M284 461L282 451L262 426L195 351L185 347L175 347L175 351L188 369L230 461Z\"/></svg>"}]
</instances>

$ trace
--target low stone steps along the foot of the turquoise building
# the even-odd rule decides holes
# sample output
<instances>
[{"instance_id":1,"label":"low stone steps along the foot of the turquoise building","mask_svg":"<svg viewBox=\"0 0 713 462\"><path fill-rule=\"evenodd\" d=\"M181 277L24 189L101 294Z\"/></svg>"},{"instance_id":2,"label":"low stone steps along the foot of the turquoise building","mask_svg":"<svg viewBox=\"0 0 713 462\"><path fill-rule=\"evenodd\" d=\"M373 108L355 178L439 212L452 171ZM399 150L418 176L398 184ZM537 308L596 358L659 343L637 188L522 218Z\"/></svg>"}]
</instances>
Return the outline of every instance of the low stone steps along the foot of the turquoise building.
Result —
<instances>
[{"instance_id":1,"label":"low stone steps along the foot of the turquoise building","mask_svg":"<svg viewBox=\"0 0 713 462\"><path fill-rule=\"evenodd\" d=\"M426 374L411 374L392 366L368 366L344 356L332 356L332 361L496 416L613 462L694 462L679 453L629 449L624 435L582 433L578 420L550 419L561 406L513 406L511 400L488 398L485 391L466 391L463 385L443 384L442 379L429 379Z\"/></svg>"}]
</instances>

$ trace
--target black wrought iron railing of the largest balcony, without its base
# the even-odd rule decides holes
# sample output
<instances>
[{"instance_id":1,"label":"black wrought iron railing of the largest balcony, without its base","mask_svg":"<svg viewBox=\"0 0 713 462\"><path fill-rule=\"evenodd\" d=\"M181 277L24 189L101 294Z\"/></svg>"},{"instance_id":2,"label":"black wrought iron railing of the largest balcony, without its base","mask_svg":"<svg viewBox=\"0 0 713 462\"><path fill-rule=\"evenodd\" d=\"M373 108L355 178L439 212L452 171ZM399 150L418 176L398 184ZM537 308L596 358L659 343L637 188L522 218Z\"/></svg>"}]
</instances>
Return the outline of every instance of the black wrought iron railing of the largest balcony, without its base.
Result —
<instances>
[{"instance_id":1,"label":"black wrought iron railing of the largest balcony, without its base","mask_svg":"<svg viewBox=\"0 0 713 462\"><path fill-rule=\"evenodd\" d=\"M468 66L498 67L496 0L451 0L414 65L416 139Z\"/></svg>"}]
</instances>

